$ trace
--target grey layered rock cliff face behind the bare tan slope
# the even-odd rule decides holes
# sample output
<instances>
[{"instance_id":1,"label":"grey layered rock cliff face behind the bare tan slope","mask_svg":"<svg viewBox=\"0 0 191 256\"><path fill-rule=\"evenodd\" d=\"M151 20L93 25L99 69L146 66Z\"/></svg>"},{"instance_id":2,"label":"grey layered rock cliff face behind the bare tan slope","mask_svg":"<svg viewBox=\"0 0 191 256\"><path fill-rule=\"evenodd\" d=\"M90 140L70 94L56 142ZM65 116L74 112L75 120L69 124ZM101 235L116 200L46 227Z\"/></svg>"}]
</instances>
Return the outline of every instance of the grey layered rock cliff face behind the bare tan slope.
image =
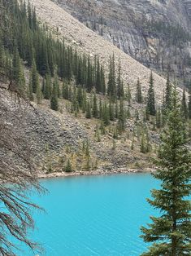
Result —
<instances>
[{"instance_id":1,"label":"grey layered rock cliff face behind the bare tan slope","mask_svg":"<svg viewBox=\"0 0 191 256\"><path fill-rule=\"evenodd\" d=\"M191 1L54 2L147 67L190 77Z\"/></svg>"}]
</instances>

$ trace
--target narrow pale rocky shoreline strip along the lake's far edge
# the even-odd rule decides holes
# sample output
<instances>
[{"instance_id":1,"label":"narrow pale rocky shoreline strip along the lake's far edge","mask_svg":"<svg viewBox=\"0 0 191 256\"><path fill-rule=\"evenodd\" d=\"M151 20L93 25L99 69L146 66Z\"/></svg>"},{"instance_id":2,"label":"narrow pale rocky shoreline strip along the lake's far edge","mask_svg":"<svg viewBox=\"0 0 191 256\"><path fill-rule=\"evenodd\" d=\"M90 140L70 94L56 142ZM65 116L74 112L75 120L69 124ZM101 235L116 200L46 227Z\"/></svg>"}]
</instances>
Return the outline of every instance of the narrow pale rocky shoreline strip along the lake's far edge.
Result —
<instances>
[{"instance_id":1,"label":"narrow pale rocky shoreline strip along the lake's far edge","mask_svg":"<svg viewBox=\"0 0 191 256\"><path fill-rule=\"evenodd\" d=\"M50 174L39 174L39 179L50 179L50 178L59 178L59 177L72 177L72 176L93 176L93 175L108 175L108 174L135 174L135 173L152 173L154 169L146 168L146 169L119 169L119 170L91 170L91 171L76 171L72 173L66 172L52 172Z\"/></svg>"}]
</instances>

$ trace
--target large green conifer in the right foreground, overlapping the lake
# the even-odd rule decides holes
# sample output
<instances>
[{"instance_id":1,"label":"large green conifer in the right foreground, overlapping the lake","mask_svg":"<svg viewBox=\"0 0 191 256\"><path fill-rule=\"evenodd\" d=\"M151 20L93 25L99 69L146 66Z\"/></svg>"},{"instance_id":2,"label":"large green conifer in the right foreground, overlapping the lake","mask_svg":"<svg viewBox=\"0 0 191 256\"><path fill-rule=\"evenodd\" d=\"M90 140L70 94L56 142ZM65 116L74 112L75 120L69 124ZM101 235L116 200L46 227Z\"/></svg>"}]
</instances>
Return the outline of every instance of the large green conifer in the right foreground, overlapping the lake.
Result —
<instances>
[{"instance_id":1,"label":"large green conifer in the right foreground, overlapping the lake","mask_svg":"<svg viewBox=\"0 0 191 256\"><path fill-rule=\"evenodd\" d=\"M176 91L172 95L172 109L162 135L154 178L160 189L152 190L150 205L160 210L159 217L151 217L149 227L141 227L145 242L153 242L144 256L189 255L191 205L186 196L191 193L191 154L184 139L184 123Z\"/></svg>"}]
</instances>

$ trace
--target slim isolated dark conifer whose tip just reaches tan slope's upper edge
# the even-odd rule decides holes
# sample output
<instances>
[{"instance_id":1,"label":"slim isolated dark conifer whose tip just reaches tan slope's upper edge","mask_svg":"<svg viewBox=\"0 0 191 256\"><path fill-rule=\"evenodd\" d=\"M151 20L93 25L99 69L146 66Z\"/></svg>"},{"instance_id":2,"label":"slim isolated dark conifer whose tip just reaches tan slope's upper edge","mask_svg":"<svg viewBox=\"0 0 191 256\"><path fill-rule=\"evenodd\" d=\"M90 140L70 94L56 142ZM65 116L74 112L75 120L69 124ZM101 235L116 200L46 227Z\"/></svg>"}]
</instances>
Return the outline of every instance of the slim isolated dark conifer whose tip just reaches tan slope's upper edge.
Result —
<instances>
[{"instance_id":1,"label":"slim isolated dark conifer whose tip just reaches tan slope's upper edge","mask_svg":"<svg viewBox=\"0 0 191 256\"><path fill-rule=\"evenodd\" d=\"M156 108L155 108L154 81L153 81L153 73L152 72L150 73L150 87L149 87L149 90L148 90L146 108L147 108L148 113L151 116L155 116Z\"/></svg>"}]
</instances>

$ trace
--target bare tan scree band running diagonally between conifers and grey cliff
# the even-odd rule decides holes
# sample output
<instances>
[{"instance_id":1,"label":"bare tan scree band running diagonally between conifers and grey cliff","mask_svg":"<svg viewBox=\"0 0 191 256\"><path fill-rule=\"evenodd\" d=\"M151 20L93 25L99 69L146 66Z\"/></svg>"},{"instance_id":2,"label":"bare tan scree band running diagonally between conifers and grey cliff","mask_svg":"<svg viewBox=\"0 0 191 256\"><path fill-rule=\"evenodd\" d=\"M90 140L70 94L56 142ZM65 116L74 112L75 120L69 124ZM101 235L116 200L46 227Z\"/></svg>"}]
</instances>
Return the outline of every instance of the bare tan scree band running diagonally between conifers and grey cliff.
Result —
<instances>
[{"instance_id":1,"label":"bare tan scree band running diagonally between conifers and grey cliff","mask_svg":"<svg viewBox=\"0 0 191 256\"><path fill-rule=\"evenodd\" d=\"M57 33L60 38L64 37L67 43L76 47L81 53L89 54L92 58L94 55L99 55L105 68L108 68L109 58L114 53L115 59L119 59L121 62L125 84L129 83L132 87L132 92L134 92L135 84L139 77L143 93L147 92L150 77L149 68L145 68L144 65L133 60L132 57L119 50L116 46L113 46L111 42L107 42L91 29L88 29L54 2L50 0L32 0L31 2L36 7L37 15L41 22L54 29L54 33ZM158 100L163 98L165 84L165 79L154 73L154 90Z\"/></svg>"}]
</instances>

